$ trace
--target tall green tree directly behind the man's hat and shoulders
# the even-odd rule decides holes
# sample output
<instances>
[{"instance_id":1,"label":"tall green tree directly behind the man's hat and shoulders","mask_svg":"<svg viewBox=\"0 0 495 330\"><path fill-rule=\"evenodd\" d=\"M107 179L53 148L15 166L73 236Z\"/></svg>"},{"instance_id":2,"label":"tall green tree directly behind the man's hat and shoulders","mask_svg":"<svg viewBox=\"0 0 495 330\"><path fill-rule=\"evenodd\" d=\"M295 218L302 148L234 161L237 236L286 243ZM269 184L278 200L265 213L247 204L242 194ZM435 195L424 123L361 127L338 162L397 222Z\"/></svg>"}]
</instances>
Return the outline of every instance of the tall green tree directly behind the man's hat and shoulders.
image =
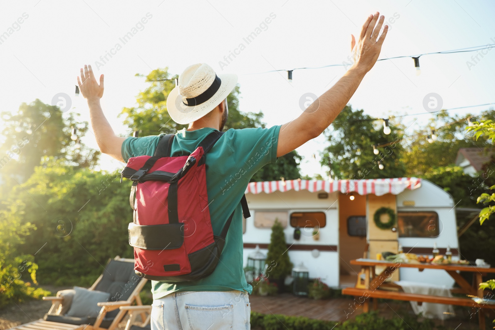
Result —
<instances>
[{"instance_id":1,"label":"tall green tree directly behind the man's hat and shoulders","mask_svg":"<svg viewBox=\"0 0 495 330\"><path fill-rule=\"evenodd\" d=\"M173 80L177 75L171 76L168 68L156 69L148 75L137 74L138 77L146 78L149 86L137 96L135 107L125 107L121 116L124 124L129 126L130 132L138 131L140 136L156 135L160 133L175 133L188 125L176 124L167 112L167 96L174 89ZM229 107L229 117L225 124L224 131L228 129L242 129L253 127L265 127L262 122L263 113L241 112L239 111L239 95L241 94L239 85L227 96ZM258 171L251 181L273 181L285 178L286 180L298 179L299 162L301 156L297 151L292 151L279 157L277 163L268 164Z\"/></svg>"}]
</instances>

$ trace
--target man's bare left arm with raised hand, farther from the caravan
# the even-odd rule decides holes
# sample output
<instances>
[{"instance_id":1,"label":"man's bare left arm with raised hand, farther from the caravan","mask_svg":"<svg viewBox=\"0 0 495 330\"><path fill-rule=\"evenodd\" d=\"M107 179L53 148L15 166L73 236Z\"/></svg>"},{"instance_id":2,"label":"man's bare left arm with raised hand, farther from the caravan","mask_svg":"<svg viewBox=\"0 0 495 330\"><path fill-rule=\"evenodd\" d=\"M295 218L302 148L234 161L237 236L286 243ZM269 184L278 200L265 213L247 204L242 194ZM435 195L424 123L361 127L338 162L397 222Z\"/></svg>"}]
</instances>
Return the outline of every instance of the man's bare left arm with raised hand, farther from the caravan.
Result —
<instances>
[{"instance_id":1,"label":"man's bare left arm with raised hand, farther from the caravan","mask_svg":"<svg viewBox=\"0 0 495 330\"><path fill-rule=\"evenodd\" d=\"M91 127L95 132L99 149L101 152L123 162L121 148L125 138L118 137L113 133L112 127L106 120L99 104L99 99L103 96L103 75L99 77L98 85L91 65L85 65L84 71L81 69L81 79L77 77L77 83L81 94L88 100Z\"/></svg>"}]
</instances>

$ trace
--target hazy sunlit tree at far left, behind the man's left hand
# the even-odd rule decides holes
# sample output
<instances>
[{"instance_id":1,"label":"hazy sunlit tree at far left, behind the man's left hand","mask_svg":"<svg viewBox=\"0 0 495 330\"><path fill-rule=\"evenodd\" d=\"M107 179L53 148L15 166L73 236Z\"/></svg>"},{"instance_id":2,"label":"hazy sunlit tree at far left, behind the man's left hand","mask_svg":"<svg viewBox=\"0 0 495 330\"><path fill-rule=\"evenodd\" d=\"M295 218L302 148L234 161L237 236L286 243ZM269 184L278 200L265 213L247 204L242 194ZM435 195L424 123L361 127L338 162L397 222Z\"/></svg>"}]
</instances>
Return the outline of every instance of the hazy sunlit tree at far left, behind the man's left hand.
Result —
<instances>
[{"instance_id":1,"label":"hazy sunlit tree at far left, behind the man's left hand","mask_svg":"<svg viewBox=\"0 0 495 330\"><path fill-rule=\"evenodd\" d=\"M26 181L40 165L43 157L63 159L66 164L90 167L96 164L99 151L71 140L71 127L76 135L83 136L87 122L80 122L78 115L70 113L66 118L57 106L39 99L22 103L17 113L3 112L4 129L0 132L0 178L5 181L2 195L9 187ZM79 148L77 147L79 146ZM0 179L0 181L1 181Z\"/></svg>"}]
</instances>

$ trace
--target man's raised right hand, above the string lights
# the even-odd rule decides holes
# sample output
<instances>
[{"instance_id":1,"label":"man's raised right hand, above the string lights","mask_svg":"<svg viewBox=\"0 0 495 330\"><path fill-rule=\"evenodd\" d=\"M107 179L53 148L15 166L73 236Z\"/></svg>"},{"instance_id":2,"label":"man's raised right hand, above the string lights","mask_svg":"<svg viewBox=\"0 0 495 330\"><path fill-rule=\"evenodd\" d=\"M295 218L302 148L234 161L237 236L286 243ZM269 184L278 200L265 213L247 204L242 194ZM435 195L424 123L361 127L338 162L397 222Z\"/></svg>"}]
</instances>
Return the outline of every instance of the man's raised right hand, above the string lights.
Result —
<instances>
[{"instance_id":1,"label":"man's raised right hand, above the string lights","mask_svg":"<svg viewBox=\"0 0 495 330\"><path fill-rule=\"evenodd\" d=\"M389 26L385 25L382 35L378 37L383 21L385 20L385 16L383 15L378 19L379 15L380 13L378 11L375 15L369 15L361 28L361 34L359 35L357 43L354 36L351 35L352 40L350 47L354 56L354 65L365 70L365 72L371 70L373 65L375 65L376 60L380 55L380 51L382 50L383 41L389 30Z\"/></svg>"}]
</instances>

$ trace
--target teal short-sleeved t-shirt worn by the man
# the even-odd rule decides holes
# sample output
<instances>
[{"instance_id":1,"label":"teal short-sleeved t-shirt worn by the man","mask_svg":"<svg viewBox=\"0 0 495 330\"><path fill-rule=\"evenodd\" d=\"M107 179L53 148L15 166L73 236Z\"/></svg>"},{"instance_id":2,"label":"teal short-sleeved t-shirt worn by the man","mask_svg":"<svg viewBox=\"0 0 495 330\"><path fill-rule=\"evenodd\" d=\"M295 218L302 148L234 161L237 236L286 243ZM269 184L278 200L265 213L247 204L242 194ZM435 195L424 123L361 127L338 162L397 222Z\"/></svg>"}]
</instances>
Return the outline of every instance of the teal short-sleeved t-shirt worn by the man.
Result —
<instances>
[{"instance_id":1,"label":"teal short-sleeved t-shirt worn by the man","mask_svg":"<svg viewBox=\"0 0 495 330\"><path fill-rule=\"evenodd\" d=\"M172 156L193 152L212 128L179 131L172 142ZM243 226L241 197L256 171L277 161L280 126L227 130L206 156L206 190L213 234L219 235L227 218L234 211L220 262L213 273L201 280L183 283L151 281L153 299L175 291L228 291L251 293L243 270ZM152 156L159 135L127 138L122 144L124 161L131 157Z\"/></svg>"}]
</instances>

